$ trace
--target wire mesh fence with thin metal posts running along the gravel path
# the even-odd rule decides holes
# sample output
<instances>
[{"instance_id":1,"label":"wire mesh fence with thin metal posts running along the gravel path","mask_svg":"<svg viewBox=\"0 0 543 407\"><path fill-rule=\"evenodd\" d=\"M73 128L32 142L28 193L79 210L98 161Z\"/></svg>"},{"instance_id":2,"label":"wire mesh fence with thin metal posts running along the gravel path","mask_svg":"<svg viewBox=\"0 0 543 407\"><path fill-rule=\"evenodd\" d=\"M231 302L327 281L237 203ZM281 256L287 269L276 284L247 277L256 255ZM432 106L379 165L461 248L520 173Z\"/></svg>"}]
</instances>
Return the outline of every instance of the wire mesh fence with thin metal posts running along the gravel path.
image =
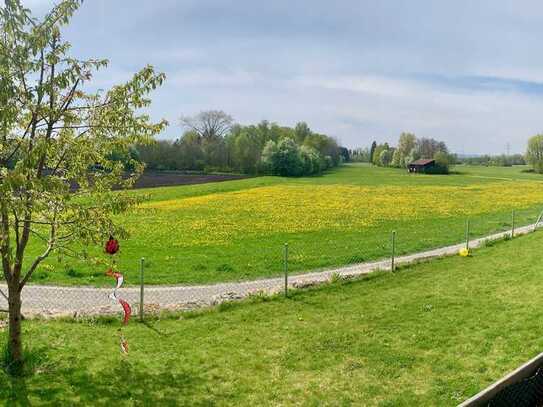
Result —
<instances>
[{"instance_id":1,"label":"wire mesh fence with thin metal posts running along the gravel path","mask_svg":"<svg viewBox=\"0 0 543 407\"><path fill-rule=\"evenodd\" d=\"M283 241L251 240L236 250L207 247L187 255L182 248L172 247L166 256L145 259L131 253L117 265L125 276L118 295L132 305L135 316L142 311L145 315L163 309L191 309L250 294L286 292L288 287L316 284L335 275L393 270L405 262L479 246L484 244L482 237L525 233L538 222L541 210L532 207L470 218L453 214L439 222L389 222L388 227L376 226L375 230L339 225L337 232L287 234ZM98 287L40 285L39 278L35 279L23 290L23 310L42 315L120 312L118 303L110 298L114 281L103 274L97 274L101 279ZM183 280L186 276L197 278ZM5 282L0 281L0 291L0 310L5 310Z\"/></svg>"}]
</instances>

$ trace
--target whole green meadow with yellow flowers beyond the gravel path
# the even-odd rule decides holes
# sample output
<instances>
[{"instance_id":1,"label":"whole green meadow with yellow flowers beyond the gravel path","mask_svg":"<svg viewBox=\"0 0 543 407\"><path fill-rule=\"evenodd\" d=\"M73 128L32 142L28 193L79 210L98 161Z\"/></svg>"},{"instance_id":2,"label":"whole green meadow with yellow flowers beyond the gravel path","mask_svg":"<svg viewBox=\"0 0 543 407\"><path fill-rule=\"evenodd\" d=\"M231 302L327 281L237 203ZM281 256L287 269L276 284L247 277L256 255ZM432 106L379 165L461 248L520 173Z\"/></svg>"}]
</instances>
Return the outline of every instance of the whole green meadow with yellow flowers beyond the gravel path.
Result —
<instances>
[{"instance_id":1,"label":"whole green meadow with yellow flowers beyond the gravel path","mask_svg":"<svg viewBox=\"0 0 543 407\"><path fill-rule=\"evenodd\" d=\"M543 177L524 167L457 167L449 176L346 165L320 177L259 177L135 191L149 200L119 219L131 233L118 265L137 284L140 257L149 284L194 284L340 266L532 223L543 209ZM33 247L38 252L38 247ZM91 253L100 254L99 250ZM103 265L53 257L33 283L110 285Z\"/></svg>"}]
</instances>

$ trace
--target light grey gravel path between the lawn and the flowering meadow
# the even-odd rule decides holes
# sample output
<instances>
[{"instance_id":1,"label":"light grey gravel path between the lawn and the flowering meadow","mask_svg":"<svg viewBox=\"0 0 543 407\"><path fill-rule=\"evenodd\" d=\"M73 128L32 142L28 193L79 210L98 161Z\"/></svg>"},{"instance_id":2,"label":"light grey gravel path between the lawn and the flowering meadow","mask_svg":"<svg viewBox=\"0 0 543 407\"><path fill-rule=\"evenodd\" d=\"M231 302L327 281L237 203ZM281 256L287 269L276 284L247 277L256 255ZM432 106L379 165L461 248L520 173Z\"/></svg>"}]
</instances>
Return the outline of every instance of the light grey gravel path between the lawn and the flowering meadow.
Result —
<instances>
[{"instance_id":1,"label":"light grey gravel path between the lawn and the flowering meadow","mask_svg":"<svg viewBox=\"0 0 543 407\"><path fill-rule=\"evenodd\" d=\"M527 234L534 231L536 225L516 229L515 234ZM502 232L474 239L470 247L477 248L485 240L497 240L511 232ZM419 252L396 258L396 264L407 264L419 260L457 254L465 243L439 249ZM304 287L330 280L333 275L342 277L368 274L377 270L390 270L390 260L360 263L326 271L293 275L289 277L289 286ZM200 286L149 286L145 288L146 309L191 309L216 304L226 300L246 297L250 294L274 293L284 287L284 277L262 279L239 283L222 283ZM0 290L6 292L5 285ZM91 315L119 312L119 306L108 298L111 289L92 287L55 287L29 285L23 290L23 313L25 315ZM139 288L129 287L119 290L119 296L133 305L137 312ZM0 294L0 309L7 308L6 299Z\"/></svg>"}]
</instances>

